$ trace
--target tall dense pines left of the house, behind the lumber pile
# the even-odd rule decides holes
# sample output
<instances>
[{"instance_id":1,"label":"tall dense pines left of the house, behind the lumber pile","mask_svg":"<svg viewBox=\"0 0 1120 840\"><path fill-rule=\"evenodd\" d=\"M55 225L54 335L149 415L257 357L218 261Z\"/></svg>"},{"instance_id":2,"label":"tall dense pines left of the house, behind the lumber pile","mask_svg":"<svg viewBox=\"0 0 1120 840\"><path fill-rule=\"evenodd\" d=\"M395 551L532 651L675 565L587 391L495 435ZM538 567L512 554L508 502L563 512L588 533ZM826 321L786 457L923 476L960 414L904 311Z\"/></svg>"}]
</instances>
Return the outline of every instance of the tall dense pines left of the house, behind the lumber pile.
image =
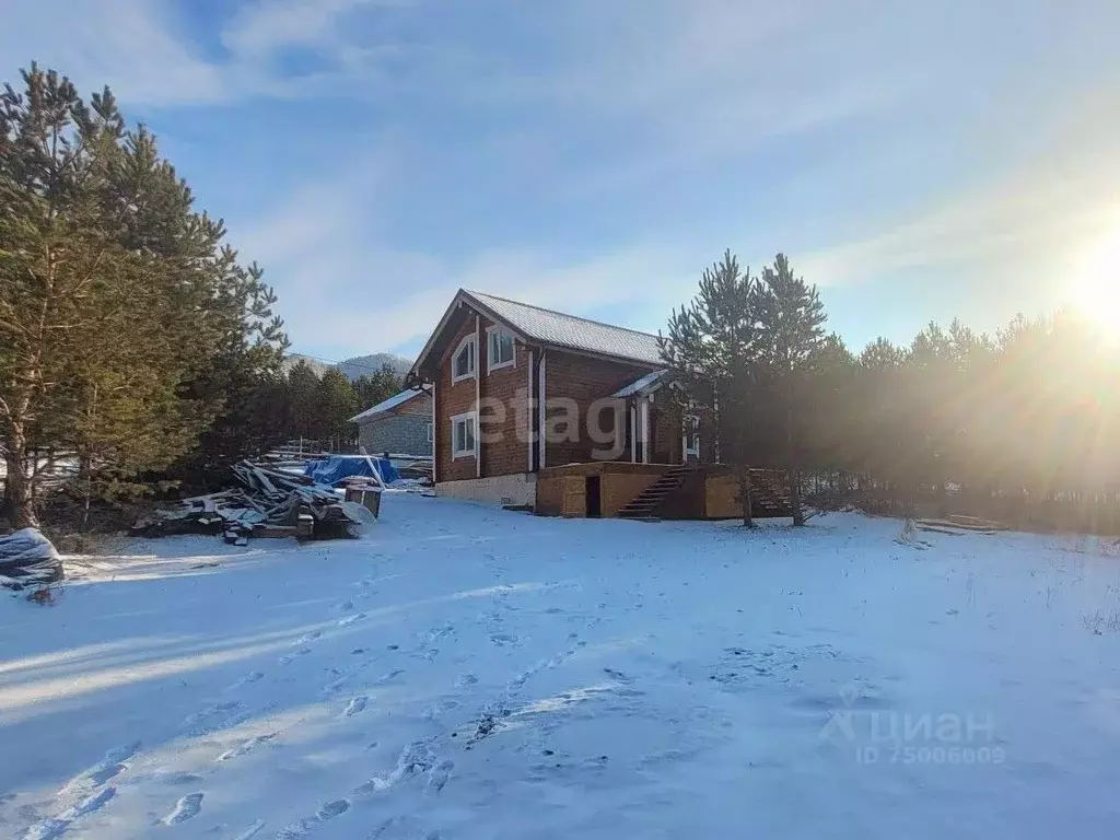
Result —
<instances>
[{"instance_id":1,"label":"tall dense pines left of the house, behind the lumber pile","mask_svg":"<svg viewBox=\"0 0 1120 840\"><path fill-rule=\"evenodd\" d=\"M0 520L65 456L91 495L192 482L286 437L345 437L391 372L282 370L263 272L104 88L31 65L0 92Z\"/></svg>"}]
</instances>

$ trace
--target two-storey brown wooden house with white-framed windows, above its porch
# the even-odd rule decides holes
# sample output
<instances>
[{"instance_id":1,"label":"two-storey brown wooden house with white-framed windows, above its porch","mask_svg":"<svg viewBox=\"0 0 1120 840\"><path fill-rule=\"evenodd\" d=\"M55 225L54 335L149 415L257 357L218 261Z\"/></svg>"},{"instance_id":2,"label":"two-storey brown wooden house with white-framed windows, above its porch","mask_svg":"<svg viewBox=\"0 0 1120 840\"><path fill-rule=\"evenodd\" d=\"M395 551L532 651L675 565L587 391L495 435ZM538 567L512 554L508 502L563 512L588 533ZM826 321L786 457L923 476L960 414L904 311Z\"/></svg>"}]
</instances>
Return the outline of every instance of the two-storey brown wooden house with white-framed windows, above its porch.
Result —
<instances>
[{"instance_id":1,"label":"two-storey brown wooden house with white-framed windows, above its porch","mask_svg":"<svg viewBox=\"0 0 1120 840\"><path fill-rule=\"evenodd\" d=\"M466 347L472 348L473 370ZM663 444L656 455L670 457L666 427L674 418L669 405L654 416L648 404L641 410L635 404L635 399L650 402L662 384L656 382L661 371L656 336L459 290L417 358L410 382L435 388L439 484L524 475L603 457L648 459L634 439L650 431ZM544 410L538 404L542 390ZM612 398L613 404L592 411L597 401ZM553 429L551 421L572 412L570 435L538 442L542 428ZM461 433L456 436L455 419L467 416L476 423L473 451L464 449ZM678 427L676 452L679 435Z\"/></svg>"}]
</instances>

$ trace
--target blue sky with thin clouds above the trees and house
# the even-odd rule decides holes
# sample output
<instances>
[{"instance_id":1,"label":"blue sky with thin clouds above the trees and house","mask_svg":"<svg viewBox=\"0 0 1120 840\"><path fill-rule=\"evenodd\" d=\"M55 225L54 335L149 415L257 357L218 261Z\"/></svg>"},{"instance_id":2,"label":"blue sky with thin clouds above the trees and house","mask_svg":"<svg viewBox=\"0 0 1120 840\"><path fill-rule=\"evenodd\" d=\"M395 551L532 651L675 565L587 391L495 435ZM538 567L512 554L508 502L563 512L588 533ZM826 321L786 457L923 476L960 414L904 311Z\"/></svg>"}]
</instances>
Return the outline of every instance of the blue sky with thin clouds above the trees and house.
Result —
<instances>
[{"instance_id":1,"label":"blue sky with thin clouds above the trees and house","mask_svg":"<svg viewBox=\"0 0 1120 840\"><path fill-rule=\"evenodd\" d=\"M855 347L992 329L1120 261L1114 0L0 0L0 77L111 85L326 358L414 352L460 286L655 332L725 248L788 253Z\"/></svg>"}]
</instances>

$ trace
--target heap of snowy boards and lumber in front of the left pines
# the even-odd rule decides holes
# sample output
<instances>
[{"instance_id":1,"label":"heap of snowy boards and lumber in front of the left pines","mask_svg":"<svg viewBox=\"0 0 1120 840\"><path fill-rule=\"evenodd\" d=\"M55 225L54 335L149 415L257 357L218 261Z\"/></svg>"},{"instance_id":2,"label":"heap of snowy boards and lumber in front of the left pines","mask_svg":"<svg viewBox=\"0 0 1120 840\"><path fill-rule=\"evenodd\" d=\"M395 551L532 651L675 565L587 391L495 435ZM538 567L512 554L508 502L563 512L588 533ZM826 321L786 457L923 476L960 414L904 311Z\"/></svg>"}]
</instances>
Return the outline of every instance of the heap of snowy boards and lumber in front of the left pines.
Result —
<instances>
[{"instance_id":1,"label":"heap of snowy boards and lumber in front of the left pines","mask_svg":"<svg viewBox=\"0 0 1120 840\"><path fill-rule=\"evenodd\" d=\"M226 542L244 545L250 536L356 536L368 524L361 505L343 501L333 487L306 476L248 460L234 466L233 473L241 487L184 498L176 507L137 522L132 533L220 533Z\"/></svg>"}]
</instances>

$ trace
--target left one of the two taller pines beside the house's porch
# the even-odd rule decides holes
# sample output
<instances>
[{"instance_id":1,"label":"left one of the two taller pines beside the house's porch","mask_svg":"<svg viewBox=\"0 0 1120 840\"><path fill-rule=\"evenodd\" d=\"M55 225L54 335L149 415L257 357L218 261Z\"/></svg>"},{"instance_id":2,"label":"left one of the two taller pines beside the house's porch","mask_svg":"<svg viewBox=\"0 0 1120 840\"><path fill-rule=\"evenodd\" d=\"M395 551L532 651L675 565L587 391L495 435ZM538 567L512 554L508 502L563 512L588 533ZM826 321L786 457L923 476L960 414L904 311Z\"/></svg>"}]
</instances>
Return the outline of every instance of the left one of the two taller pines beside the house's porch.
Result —
<instances>
[{"instance_id":1,"label":"left one of the two taller pines beside the house's porch","mask_svg":"<svg viewBox=\"0 0 1120 840\"><path fill-rule=\"evenodd\" d=\"M692 302L673 309L661 354L687 399L718 423L720 458L737 468L743 524L754 525L750 460L762 351L762 289L726 251L706 269ZM718 404L717 404L718 403Z\"/></svg>"}]
</instances>

